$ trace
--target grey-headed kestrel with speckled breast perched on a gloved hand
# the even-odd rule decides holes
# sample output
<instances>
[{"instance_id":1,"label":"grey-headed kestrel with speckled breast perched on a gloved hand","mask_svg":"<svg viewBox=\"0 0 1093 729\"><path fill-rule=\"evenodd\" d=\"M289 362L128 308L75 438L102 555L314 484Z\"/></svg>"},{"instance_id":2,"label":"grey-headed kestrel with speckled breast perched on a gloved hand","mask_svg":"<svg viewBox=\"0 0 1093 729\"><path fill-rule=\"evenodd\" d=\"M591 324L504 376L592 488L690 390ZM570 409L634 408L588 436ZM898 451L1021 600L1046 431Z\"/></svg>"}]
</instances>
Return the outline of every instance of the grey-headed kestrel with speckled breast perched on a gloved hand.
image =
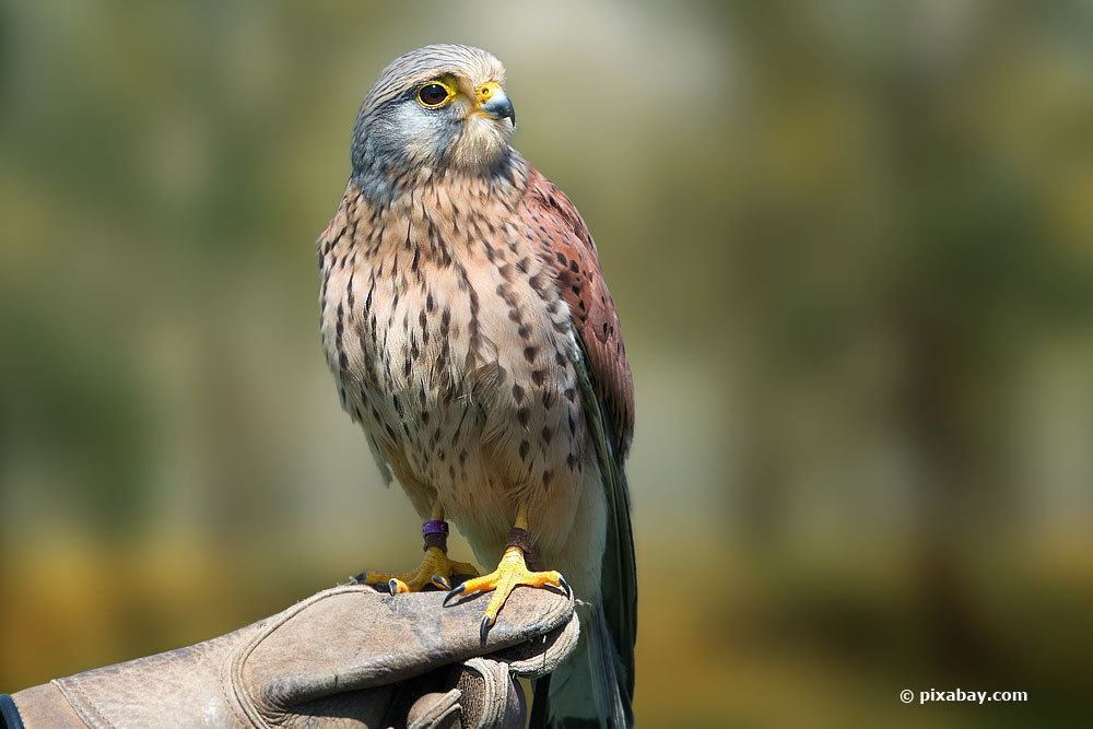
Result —
<instances>
[{"instance_id":1,"label":"grey-headed kestrel with speckled breast perched on a gloved hand","mask_svg":"<svg viewBox=\"0 0 1093 729\"><path fill-rule=\"evenodd\" d=\"M342 407L424 520L421 565L364 581L493 591L483 640L515 587L572 588L581 643L536 695L549 693L553 726L628 726L633 380L592 237L510 145L504 82L469 46L392 61L361 107L318 242ZM458 584L477 572L448 558L448 519L496 569Z\"/></svg>"}]
</instances>

